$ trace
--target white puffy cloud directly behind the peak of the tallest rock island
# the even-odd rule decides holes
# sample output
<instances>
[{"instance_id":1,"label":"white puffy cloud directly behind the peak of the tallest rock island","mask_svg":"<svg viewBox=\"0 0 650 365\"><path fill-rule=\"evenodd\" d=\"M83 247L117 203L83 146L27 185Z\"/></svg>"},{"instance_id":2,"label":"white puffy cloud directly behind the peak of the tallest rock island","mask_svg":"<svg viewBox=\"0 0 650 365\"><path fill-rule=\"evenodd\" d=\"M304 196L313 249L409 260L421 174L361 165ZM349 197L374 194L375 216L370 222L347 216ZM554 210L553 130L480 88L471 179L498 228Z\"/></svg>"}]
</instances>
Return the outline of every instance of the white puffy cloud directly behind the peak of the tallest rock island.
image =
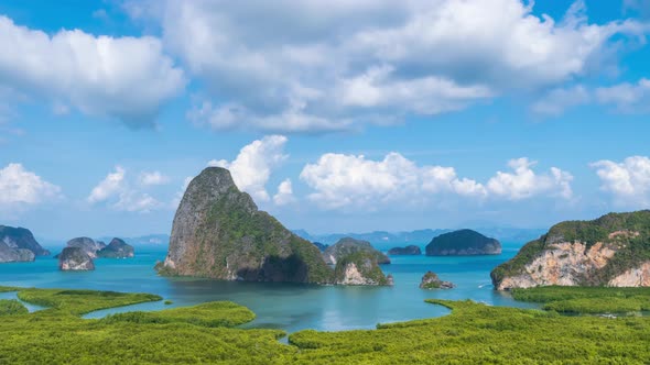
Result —
<instances>
[{"instance_id":1,"label":"white puffy cloud directly behind the peak of the tallest rock island","mask_svg":"<svg viewBox=\"0 0 650 365\"><path fill-rule=\"evenodd\" d=\"M285 143L283 135L267 135L243 146L232 162L213 159L208 166L229 169L239 189L254 199L269 201L271 198L266 186L273 169L286 158L283 153Z\"/></svg>"}]
</instances>

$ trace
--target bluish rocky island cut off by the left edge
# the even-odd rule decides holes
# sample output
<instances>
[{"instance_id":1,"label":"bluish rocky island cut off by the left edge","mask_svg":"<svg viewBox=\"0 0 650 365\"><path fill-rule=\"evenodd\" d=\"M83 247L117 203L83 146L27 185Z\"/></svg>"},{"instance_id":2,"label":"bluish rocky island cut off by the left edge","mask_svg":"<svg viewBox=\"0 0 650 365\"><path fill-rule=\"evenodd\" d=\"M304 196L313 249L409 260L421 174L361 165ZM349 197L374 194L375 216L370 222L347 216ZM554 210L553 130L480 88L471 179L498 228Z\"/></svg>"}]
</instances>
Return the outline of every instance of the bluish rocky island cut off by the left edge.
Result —
<instances>
[{"instance_id":1,"label":"bluish rocky island cut off by the left edge","mask_svg":"<svg viewBox=\"0 0 650 365\"><path fill-rule=\"evenodd\" d=\"M30 262L35 256L47 256L30 230L0 225L0 263Z\"/></svg>"}]
</instances>

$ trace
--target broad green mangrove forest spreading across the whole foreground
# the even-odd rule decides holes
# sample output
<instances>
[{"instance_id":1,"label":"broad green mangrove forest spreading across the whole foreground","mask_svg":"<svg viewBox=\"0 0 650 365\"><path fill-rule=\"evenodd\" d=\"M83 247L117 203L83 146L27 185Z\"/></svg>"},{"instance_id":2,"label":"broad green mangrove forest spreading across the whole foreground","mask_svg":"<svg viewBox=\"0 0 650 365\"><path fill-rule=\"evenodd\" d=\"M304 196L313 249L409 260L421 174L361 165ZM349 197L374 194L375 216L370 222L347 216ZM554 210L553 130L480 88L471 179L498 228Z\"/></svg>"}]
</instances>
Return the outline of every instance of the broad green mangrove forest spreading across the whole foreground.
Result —
<instances>
[{"instance_id":1,"label":"broad green mangrove forest spreading across the whole foreground","mask_svg":"<svg viewBox=\"0 0 650 365\"><path fill-rule=\"evenodd\" d=\"M40 289L20 290L26 290L32 298L54 296L50 290L42 290L42 295ZM102 292L87 292L89 302L106 303ZM540 294L530 291L535 292ZM576 292L581 297L586 291ZM549 291L545 296L554 295ZM284 345L277 341L284 335L282 331L212 327L210 319L215 318L239 317L225 325L241 322L246 316L250 318L251 313L232 303L163 310L152 317L140 317L142 321L134 320L140 314L127 313L84 320L71 313L84 312L88 306L74 296L61 298L57 308L65 309L10 316L0 321L0 363L644 364L650 361L650 318L647 317L564 317L473 301L430 300L432 305L452 309L452 313L380 324L377 330L301 331L290 336L290 345Z\"/></svg>"}]
</instances>

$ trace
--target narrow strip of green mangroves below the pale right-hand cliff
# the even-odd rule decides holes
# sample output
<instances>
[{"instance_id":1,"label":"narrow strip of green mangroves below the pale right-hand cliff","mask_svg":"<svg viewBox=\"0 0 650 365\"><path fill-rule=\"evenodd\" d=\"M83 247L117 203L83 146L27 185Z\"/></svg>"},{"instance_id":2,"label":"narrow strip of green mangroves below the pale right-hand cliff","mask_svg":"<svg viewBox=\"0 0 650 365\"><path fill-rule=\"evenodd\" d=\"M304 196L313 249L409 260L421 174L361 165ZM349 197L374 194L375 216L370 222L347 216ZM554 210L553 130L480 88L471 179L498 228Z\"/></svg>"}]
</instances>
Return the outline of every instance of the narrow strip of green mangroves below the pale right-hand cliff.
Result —
<instances>
[{"instance_id":1,"label":"narrow strip of green mangroves below the pale right-hand cliff","mask_svg":"<svg viewBox=\"0 0 650 365\"><path fill-rule=\"evenodd\" d=\"M544 309L567 313L624 313L650 311L650 288L539 287L513 289L517 300L544 303Z\"/></svg>"}]
</instances>

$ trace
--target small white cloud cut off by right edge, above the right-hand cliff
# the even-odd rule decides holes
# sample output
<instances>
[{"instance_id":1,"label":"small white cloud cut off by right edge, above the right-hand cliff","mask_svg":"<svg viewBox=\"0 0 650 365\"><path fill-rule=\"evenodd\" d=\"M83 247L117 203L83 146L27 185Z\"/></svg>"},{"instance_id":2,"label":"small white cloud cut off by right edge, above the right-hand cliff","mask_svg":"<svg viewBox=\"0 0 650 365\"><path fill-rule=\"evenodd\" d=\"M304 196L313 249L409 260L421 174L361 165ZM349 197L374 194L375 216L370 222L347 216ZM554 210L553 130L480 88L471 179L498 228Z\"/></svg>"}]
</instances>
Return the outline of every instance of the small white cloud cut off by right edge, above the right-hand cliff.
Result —
<instances>
[{"instance_id":1,"label":"small white cloud cut off by right edge, above the right-hand cliff","mask_svg":"<svg viewBox=\"0 0 650 365\"><path fill-rule=\"evenodd\" d=\"M611 193L622 207L648 208L650 204L650 158L630 156L620 163L603 159L591 164L600 178L600 188Z\"/></svg>"}]
</instances>

